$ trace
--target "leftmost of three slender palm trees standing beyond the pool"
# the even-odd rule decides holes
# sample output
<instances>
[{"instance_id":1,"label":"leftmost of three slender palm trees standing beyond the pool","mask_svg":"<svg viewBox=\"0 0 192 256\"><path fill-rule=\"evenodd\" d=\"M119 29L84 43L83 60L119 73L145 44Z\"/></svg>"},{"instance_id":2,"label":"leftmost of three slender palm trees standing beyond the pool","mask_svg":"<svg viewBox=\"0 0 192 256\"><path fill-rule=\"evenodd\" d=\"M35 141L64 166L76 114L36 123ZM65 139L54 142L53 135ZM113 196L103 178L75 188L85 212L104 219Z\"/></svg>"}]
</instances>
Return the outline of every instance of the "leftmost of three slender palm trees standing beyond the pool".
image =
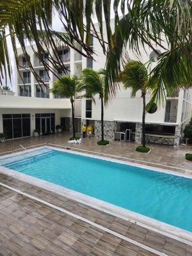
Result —
<instances>
[{"instance_id":1,"label":"leftmost of three slender palm trees standing beyond the pool","mask_svg":"<svg viewBox=\"0 0 192 256\"><path fill-rule=\"evenodd\" d=\"M60 95L70 99L72 106L72 134L75 140L76 131L75 131L75 115L74 115L74 99L77 97L77 92L79 92L79 79L77 76L70 77L69 75L61 76L60 79L57 79L53 83L53 87L50 90L55 95Z\"/></svg>"}]
</instances>

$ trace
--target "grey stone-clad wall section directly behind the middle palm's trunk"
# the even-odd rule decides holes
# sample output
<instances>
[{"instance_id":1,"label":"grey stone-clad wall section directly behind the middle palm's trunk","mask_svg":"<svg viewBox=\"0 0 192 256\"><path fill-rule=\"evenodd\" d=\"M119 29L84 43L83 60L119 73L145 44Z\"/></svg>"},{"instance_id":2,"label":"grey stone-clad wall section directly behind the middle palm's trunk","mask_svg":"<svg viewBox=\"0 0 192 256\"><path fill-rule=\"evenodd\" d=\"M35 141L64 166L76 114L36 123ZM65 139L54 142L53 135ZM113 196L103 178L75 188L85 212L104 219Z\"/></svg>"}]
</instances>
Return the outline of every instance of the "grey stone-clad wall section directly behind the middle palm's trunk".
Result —
<instances>
[{"instance_id":1,"label":"grey stone-clad wall section directly behind the middle palm's trunk","mask_svg":"<svg viewBox=\"0 0 192 256\"><path fill-rule=\"evenodd\" d=\"M113 130L115 129L115 122L104 121L104 138L108 140L113 140ZM100 138L101 127L100 121L95 120L95 137Z\"/></svg>"}]
</instances>

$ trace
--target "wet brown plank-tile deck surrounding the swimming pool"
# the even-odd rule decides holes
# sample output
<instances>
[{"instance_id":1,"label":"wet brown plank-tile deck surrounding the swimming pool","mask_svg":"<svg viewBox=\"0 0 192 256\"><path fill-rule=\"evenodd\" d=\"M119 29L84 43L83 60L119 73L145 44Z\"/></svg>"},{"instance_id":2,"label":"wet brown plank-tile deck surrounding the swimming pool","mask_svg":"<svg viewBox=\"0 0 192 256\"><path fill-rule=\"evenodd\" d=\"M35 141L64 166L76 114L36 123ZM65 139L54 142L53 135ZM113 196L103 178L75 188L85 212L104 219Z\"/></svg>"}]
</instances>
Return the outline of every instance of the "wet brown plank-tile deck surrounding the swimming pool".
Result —
<instances>
[{"instance_id":1,"label":"wet brown plank-tile deck surrounding the swimming pool","mask_svg":"<svg viewBox=\"0 0 192 256\"><path fill-rule=\"evenodd\" d=\"M29 147L51 143L117 159L124 157L124 161L148 162L150 166L168 165L176 172L192 170L192 164L184 159L184 147L173 150L170 146L150 145L152 151L142 154L134 152L134 143L112 141L108 147L99 147L95 139L86 138L81 145L68 145L67 139L68 134L54 134L6 141L0 143L0 153L16 150L19 144ZM191 150L188 147L187 152ZM192 256L192 246L186 243L76 200L3 173L0 182L0 255Z\"/></svg>"}]
</instances>

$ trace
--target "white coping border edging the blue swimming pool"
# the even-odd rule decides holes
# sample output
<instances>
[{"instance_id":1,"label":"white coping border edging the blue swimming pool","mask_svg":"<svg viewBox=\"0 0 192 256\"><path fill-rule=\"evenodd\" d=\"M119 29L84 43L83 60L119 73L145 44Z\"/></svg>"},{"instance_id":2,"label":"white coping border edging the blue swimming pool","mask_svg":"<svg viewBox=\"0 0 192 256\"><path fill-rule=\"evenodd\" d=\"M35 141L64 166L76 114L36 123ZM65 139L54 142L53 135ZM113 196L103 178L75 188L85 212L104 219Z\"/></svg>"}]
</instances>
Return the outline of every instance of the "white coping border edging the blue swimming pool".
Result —
<instances>
[{"instance_id":1,"label":"white coping border edging the blue swimming pool","mask_svg":"<svg viewBox=\"0 0 192 256\"><path fill-rule=\"evenodd\" d=\"M42 148L49 148L49 149L58 150L58 151L61 151L61 152L67 152L67 153L70 153L70 154L77 154L77 155L81 155L81 156L93 157L93 158L96 158L96 159L103 159L103 160L106 160L106 161L111 161L113 163L115 162L115 163L122 163L122 164L126 164L126 165L131 165L131 166L138 166L140 168L152 170L152 171L155 171L155 172L163 172L163 173L168 173L168 174L172 174L172 175L192 179L191 176L184 175L182 173L175 173L175 172L171 172L171 171L168 171L168 170L163 170L163 169L159 169L159 168L155 168L155 167L154 168L152 168L152 167L148 168L148 166L144 166L144 165L141 165L141 164L132 164L132 163L125 162L125 161L110 159L110 158L107 158L107 157L93 156L93 155L90 155L90 154L83 154L83 153L80 153L80 152L71 152L70 150L65 150L65 149L56 148L56 147L49 147L49 146L38 147L38 148L33 148L30 151L40 150ZM10 157L10 156L17 156L19 154L20 154L20 152L17 152L15 154L6 155L6 157L1 156L0 159L7 158L7 157ZM113 204L109 204L108 202L104 202L104 201L99 200L97 198L93 198L92 196L84 195L83 193L76 192L72 189L67 189L63 186L58 186L58 185L53 184L51 182L47 182L47 181L42 180L42 179L31 177L31 176L26 175L24 173L20 173L20 172L17 172L17 171L10 170L8 168L5 168L4 166L0 166L0 173L10 175L12 177L15 177L16 179L20 179L22 181L28 182L29 184L33 184L35 186L39 186L40 188L44 188L44 189L47 189L47 190L52 191L54 193L58 193L60 195L66 196L67 198L70 198L72 200L76 200L77 202L80 202L81 204L89 205L90 207L98 209L99 211L107 212L109 214L112 214L112 215L117 216L119 218L122 218L124 220L134 222L134 223L136 223L136 224L138 224L142 227L148 228L150 230L154 230L155 232L159 232L159 233L163 234L164 236L169 236L169 237L172 237L173 239L177 239L179 241L182 241L183 243L187 243L187 244L192 245L192 232L189 232L187 230L183 230L182 228L177 228L177 227L174 227L172 225L163 223L162 221L157 221L153 218L144 216L142 214L138 214L136 212L129 211L127 209L124 209L122 207L118 207L118 206L113 205Z\"/></svg>"}]
</instances>

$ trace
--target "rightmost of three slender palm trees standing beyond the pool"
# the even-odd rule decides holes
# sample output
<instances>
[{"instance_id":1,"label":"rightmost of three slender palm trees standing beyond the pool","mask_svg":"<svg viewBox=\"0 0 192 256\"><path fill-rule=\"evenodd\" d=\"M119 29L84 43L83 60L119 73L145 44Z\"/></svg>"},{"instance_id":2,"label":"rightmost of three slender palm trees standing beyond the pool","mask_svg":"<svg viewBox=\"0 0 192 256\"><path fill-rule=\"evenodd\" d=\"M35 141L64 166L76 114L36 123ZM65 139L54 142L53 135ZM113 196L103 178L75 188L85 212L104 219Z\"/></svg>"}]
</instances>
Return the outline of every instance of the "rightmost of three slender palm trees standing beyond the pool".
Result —
<instances>
[{"instance_id":1,"label":"rightmost of three slender palm trees standing beyond the pool","mask_svg":"<svg viewBox=\"0 0 192 256\"><path fill-rule=\"evenodd\" d=\"M124 70L120 74L120 80L122 80L126 89L131 88L131 97L135 97L136 93L141 91L141 97L143 98L142 145L145 147L145 95L148 83L147 68L140 61L131 60L125 64Z\"/></svg>"}]
</instances>

